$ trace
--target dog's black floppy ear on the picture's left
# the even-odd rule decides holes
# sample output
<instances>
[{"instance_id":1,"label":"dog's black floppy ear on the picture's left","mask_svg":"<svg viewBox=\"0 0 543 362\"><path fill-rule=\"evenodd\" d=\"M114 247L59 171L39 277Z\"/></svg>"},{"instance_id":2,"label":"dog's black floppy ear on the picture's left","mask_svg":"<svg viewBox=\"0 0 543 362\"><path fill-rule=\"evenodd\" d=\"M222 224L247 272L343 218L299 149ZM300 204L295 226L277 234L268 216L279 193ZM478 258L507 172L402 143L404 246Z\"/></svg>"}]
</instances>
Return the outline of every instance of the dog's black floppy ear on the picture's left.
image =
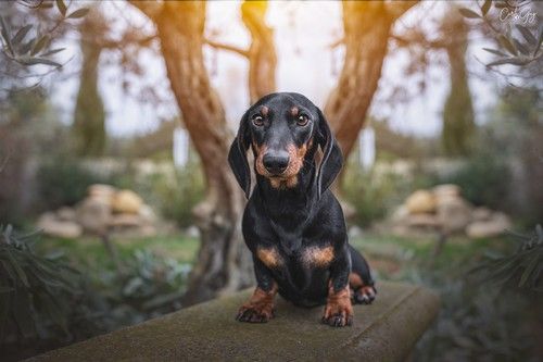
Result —
<instances>
[{"instance_id":1,"label":"dog's black floppy ear on the picture's left","mask_svg":"<svg viewBox=\"0 0 543 362\"><path fill-rule=\"evenodd\" d=\"M245 192L245 197L249 199L249 192L251 192L251 170L249 168L249 162L247 160L247 151L249 150L250 143L247 120L248 113L243 114L241 117L238 135L233 139L230 151L228 152L228 163L232 168L239 186L241 186Z\"/></svg>"}]
</instances>

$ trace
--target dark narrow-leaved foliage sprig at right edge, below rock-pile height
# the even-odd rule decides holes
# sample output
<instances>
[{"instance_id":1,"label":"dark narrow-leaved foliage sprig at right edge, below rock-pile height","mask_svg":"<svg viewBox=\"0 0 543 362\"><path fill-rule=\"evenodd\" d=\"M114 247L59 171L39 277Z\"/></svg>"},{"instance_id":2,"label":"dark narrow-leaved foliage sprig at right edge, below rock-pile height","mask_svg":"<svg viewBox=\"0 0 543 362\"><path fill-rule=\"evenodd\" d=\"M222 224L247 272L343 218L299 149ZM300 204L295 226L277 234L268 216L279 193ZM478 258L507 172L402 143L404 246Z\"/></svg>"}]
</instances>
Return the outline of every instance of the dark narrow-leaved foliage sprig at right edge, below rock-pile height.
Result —
<instances>
[{"instance_id":1,"label":"dark narrow-leaved foliage sprig at right edge, below rock-pile height","mask_svg":"<svg viewBox=\"0 0 543 362\"><path fill-rule=\"evenodd\" d=\"M520 244L514 253L488 254L488 261L472 272L485 283L528 292L543 292L543 228L538 225L531 235L510 235Z\"/></svg>"}]
</instances>

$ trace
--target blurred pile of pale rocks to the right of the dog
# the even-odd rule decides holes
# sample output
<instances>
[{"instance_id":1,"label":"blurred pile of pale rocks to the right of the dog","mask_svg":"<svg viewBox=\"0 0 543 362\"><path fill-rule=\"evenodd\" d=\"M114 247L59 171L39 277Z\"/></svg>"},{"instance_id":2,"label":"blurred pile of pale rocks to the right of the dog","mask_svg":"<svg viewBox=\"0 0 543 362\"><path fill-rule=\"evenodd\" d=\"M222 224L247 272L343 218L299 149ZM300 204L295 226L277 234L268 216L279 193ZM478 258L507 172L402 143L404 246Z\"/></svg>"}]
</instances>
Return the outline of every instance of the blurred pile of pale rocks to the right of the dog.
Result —
<instances>
[{"instance_id":1,"label":"blurred pile of pale rocks to the right of the dog","mask_svg":"<svg viewBox=\"0 0 543 362\"><path fill-rule=\"evenodd\" d=\"M413 192L387 224L397 236L443 233L483 238L503 234L510 227L510 220L502 212L475 208L456 185L439 185Z\"/></svg>"}]
</instances>

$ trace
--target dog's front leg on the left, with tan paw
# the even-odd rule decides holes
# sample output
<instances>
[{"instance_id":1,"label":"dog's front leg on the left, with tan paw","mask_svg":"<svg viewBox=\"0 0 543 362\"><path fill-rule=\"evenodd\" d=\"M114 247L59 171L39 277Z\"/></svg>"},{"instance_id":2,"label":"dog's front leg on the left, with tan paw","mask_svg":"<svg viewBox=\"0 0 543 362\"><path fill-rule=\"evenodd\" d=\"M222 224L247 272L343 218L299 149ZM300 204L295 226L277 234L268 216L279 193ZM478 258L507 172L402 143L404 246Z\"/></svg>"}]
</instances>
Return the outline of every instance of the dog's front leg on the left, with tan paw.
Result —
<instances>
[{"instance_id":1,"label":"dog's front leg on the left, with tan paw","mask_svg":"<svg viewBox=\"0 0 543 362\"><path fill-rule=\"evenodd\" d=\"M258 258L253 258L253 260L257 286L249 301L239 309L236 320L265 323L274 317L274 297L277 294L277 284L266 265Z\"/></svg>"}]
</instances>

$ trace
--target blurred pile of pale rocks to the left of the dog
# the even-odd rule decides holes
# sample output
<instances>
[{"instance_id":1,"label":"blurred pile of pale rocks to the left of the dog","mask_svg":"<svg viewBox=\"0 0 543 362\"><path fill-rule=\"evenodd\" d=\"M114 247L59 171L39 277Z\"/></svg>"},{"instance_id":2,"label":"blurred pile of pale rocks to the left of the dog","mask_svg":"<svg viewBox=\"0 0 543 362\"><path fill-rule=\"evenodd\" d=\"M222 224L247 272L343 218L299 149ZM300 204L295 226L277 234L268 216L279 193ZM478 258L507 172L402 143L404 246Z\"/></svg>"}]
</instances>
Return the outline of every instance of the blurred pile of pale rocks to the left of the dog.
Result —
<instances>
[{"instance_id":1,"label":"blurred pile of pale rocks to the left of the dog","mask_svg":"<svg viewBox=\"0 0 543 362\"><path fill-rule=\"evenodd\" d=\"M110 185L91 185L74 208L43 213L38 227L45 234L77 238L87 235L154 236L157 219L141 197Z\"/></svg>"}]
</instances>

